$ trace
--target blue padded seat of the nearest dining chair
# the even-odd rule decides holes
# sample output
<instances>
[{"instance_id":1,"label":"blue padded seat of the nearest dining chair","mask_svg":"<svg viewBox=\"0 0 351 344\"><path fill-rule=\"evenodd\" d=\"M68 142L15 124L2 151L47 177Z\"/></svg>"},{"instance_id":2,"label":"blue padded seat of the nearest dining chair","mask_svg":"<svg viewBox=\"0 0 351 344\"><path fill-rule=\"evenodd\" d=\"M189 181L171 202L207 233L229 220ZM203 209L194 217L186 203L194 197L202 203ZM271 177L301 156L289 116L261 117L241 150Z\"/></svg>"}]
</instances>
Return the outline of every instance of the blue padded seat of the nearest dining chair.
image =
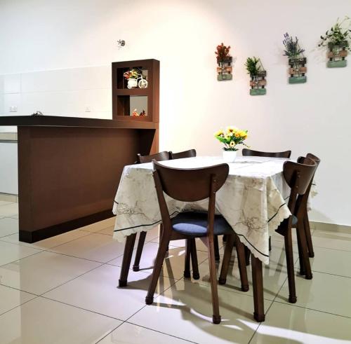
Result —
<instances>
[{"instance_id":1,"label":"blue padded seat of the nearest dining chair","mask_svg":"<svg viewBox=\"0 0 351 344\"><path fill-rule=\"evenodd\" d=\"M183 235L203 237L207 235L207 213L182 212L171 219L173 231ZM214 235L232 234L230 224L221 215L215 215Z\"/></svg>"}]
</instances>

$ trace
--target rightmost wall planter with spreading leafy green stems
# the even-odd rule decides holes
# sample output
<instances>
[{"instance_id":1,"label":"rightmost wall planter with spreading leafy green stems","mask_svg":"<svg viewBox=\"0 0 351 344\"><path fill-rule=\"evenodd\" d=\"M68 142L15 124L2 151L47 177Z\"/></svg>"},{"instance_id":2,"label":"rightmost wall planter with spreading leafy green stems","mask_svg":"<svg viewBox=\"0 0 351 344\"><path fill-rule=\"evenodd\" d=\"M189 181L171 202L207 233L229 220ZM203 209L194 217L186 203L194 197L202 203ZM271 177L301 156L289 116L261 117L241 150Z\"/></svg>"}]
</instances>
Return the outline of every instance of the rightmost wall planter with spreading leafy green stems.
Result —
<instances>
[{"instance_id":1,"label":"rightmost wall planter with spreading leafy green stems","mask_svg":"<svg viewBox=\"0 0 351 344\"><path fill-rule=\"evenodd\" d=\"M341 22L339 19L336 20L336 24L327 30L324 36L321 36L321 40L318 44L319 47L327 46L328 51L328 62L327 67L346 67L347 66L347 53L351 50L351 20L345 17Z\"/></svg>"}]
</instances>

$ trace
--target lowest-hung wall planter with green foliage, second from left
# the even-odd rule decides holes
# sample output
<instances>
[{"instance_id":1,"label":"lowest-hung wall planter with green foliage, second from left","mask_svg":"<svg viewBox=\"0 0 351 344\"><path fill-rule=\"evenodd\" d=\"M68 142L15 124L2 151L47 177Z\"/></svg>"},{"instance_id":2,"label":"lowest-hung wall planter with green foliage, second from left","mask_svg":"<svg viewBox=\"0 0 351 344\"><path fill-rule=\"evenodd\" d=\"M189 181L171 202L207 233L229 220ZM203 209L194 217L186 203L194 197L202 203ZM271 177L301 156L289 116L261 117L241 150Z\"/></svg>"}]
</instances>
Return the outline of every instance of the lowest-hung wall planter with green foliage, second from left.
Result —
<instances>
[{"instance_id":1,"label":"lowest-hung wall planter with green foliage, second from left","mask_svg":"<svg viewBox=\"0 0 351 344\"><path fill-rule=\"evenodd\" d=\"M267 71L263 69L260 59L257 57L248 57L245 63L246 71L250 74L250 95L265 95L267 90Z\"/></svg>"}]
</instances>

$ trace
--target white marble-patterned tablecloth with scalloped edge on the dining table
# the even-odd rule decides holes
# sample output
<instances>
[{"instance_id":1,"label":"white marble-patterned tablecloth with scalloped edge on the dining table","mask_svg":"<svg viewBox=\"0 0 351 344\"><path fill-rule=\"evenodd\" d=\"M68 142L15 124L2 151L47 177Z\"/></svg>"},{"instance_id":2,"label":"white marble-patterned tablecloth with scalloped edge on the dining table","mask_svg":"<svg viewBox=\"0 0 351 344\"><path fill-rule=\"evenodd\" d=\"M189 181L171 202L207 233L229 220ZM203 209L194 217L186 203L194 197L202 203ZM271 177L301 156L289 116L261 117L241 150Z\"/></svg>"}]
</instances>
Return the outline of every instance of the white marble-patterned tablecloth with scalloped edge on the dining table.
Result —
<instances>
[{"instance_id":1,"label":"white marble-patterned tablecloth with scalloped edge on the dining table","mask_svg":"<svg viewBox=\"0 0 351 344\"><path fill-rule=\"evenodd\" d=\"M268 240L279 223L290 216L285 199L290 188L282 174L287 159L242 157L230 163L225 184L216 195L216 212L230 223L241 242L263 263L269 263ZM178 168L205 167L223 163L218 157L196 157L161 162ZM208 209L208 200L186 203L166 196L169 214L188 209ZM149 231L161 222L152 163L124 167L113 213L117 215L114 238Z\"/></svg>"}]
</instances>

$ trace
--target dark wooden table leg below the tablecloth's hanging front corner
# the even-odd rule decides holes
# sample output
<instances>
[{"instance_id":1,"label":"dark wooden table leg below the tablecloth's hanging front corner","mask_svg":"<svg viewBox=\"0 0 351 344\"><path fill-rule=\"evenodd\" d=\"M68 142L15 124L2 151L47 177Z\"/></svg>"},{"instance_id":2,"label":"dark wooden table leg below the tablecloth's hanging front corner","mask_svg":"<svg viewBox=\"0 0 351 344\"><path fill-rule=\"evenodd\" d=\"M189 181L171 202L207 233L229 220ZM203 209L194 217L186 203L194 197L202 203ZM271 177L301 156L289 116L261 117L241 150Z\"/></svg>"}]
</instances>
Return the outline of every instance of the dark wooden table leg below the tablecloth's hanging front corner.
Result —
<instances>
[{"instance_id":1,"label":"dark wooden table leg below the tablecloth's hanging front corner","mask_svg":"<svg viewBox=\"0 0 351 344\"><path fill-rule=\"evenodd\" d=\"M252 284L253 284L253 317L257 322L265 321L265 305L263 303L262 262L251 254Z\"/></svg>"}]
</instances>

